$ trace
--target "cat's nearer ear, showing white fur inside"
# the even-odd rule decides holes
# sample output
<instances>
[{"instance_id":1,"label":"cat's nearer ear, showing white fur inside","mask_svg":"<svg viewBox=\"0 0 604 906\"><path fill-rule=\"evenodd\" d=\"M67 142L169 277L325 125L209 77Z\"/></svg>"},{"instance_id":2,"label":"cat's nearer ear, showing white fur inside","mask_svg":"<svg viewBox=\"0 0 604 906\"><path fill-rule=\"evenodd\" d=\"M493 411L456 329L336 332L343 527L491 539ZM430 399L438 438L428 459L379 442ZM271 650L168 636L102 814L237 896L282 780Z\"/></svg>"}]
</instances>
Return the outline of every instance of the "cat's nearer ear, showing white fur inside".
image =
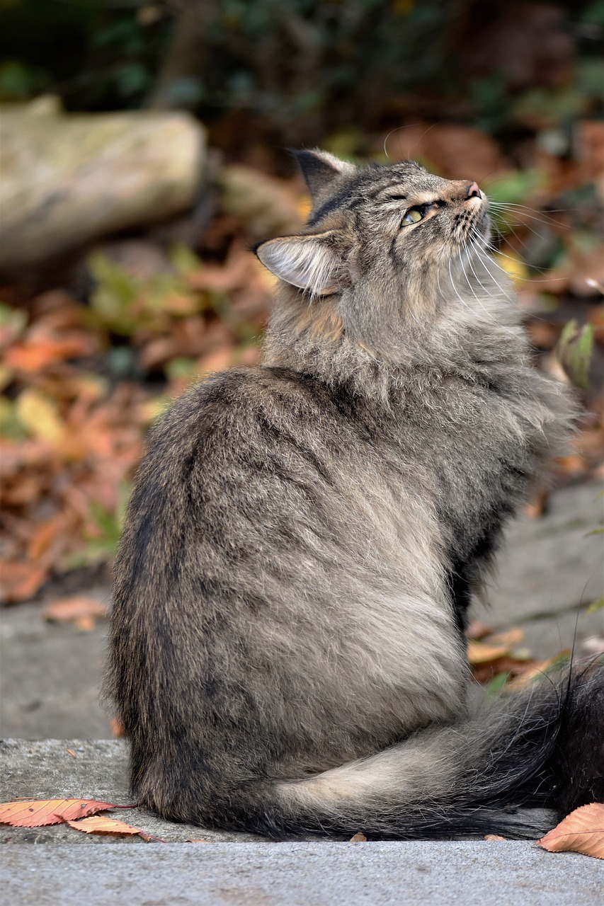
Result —
<instances>
[{"instance_id":1,"label":"cat's nearer ear, showing white fur inside","mask_svg":"<svg viewBox=\"0 0 604 906\"><path fill-rule=\"evenodd\" d=\"M260 243L255 251L262 264L281 280L313 295L327 295L349 283L346 266L331 238L331 233L283 236Z\"/></svg>"}]
</instances>

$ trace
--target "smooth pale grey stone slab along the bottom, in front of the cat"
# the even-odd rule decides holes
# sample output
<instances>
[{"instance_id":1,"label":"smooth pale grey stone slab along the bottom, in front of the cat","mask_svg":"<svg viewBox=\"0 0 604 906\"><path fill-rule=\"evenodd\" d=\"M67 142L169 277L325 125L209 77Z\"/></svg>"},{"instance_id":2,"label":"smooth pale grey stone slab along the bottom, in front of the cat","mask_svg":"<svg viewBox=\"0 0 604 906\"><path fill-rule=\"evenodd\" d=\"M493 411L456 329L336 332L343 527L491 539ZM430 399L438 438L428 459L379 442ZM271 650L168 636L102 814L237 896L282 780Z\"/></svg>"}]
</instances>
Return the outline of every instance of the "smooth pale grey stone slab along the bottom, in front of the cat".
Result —
<instances>
[{"instance_id":1,"label":"smooth pale grey stone slab along the bottom, in front of the cat","mask_svg":"<svg viewBox=\"0 0 604 906\"><path fill-rule=\"evenodd\" d=\"M75 831L73 833L76 833ZM532 843L5 846L10 906L600 906L604 866Z\"/></svg>"}]
</instances>

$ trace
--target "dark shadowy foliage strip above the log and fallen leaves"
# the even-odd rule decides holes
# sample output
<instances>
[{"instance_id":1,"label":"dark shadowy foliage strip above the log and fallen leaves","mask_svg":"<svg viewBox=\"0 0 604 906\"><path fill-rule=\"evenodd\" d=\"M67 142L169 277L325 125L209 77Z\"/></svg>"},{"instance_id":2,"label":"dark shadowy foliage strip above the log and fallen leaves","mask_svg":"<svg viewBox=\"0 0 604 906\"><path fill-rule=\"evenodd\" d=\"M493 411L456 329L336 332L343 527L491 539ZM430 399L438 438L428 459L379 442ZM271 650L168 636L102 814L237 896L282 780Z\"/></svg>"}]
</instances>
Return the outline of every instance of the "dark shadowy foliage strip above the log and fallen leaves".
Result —
<instances>
[{"instance_id":1,"label":"dark shadowy foliage strip above the log and fallen leaves","mask_svg":"<svg viewBox=\"0 0 604 906\"><path fill-rule=\"evenodd\" d=\"M368 137L409 112L559 151L604 109L602 0L0 0L0 98L178 107L231 151ZM212 134L212 132L210 132ZM212 136L213 137L213 136ZM245 143L249 142L246 135Z\"/></svg>"}]
</instances>

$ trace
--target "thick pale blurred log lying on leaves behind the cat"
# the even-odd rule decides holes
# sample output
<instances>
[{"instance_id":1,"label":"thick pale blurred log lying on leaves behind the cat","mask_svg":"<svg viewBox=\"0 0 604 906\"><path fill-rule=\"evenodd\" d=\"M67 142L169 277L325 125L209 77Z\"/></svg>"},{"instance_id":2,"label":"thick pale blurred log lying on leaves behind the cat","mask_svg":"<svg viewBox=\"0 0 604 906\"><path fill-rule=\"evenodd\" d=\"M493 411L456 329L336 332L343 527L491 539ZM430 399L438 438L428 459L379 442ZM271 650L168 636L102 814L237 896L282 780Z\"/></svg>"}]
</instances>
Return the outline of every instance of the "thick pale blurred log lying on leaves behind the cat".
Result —
<instances>
[{"instance_id":1,"label":"thick pale blurred log lying on leaves behind the cat","mask_svg":"<svg viewBox=\"0 0 604 906\"><path fill-rule=\"evenodd\" d=\"M193 205L206 137L189 114L69 115L43 101L3 111L0 271Z\"/></svg>"}]
</instances>

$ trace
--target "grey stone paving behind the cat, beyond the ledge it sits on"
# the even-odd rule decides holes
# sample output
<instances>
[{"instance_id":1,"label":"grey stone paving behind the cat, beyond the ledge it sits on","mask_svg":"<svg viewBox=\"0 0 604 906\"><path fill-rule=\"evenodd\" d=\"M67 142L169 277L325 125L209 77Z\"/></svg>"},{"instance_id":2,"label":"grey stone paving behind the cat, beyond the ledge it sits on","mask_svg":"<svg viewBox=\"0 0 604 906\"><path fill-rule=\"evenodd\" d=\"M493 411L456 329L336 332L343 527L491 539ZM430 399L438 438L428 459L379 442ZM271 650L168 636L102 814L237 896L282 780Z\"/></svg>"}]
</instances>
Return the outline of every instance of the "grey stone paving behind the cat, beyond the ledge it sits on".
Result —
<instances>
[{"instance_id":1,"label":"grey stone paving behind the cat, beyond the ledge it sits on","mask_svg":"<svg viewBox=\"0 0 604 906\"><path fill-rule=\"evenodd\" d=\"M511 525L507 545L489 590L488 609L473 615L496 629L521 625L526 644L548 658L590 637L604 636L604 611L581 604L604 592L603 535L599 485L567 487L550 496L541 519ZM107 587L94 597L109 601ZM41 618L43 604L21 604L0 613L2 710L0 735L28 739L105 738L109 718L97 697L107 626L91 632Z\"/></svg>"}]
</instances>

